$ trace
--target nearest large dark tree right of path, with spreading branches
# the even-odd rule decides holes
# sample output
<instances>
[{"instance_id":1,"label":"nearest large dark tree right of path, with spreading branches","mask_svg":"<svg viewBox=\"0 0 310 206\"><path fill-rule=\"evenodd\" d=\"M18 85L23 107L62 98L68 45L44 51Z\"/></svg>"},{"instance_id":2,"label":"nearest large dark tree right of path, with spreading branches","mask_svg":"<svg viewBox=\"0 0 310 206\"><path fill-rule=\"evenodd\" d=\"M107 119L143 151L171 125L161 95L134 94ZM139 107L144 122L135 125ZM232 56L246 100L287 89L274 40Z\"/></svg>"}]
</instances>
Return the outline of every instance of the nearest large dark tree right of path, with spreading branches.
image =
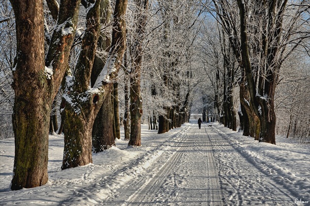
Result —
<instances>
[{"instance_id":1,"label":"nearest large dark tree right of path, with spreading branches","mask_svg":"<svg viewBox=\"0 0 310 206\"><path fill-rule=\"evenodd\" d=\"M304 32L299 32L295 28L297 21L308 6L303 0L297 6L292 5L294 8L290 12L295 11L295 15L291 19L286 19L286 24L283 24L288 0L247 4L243 0L237 0L237 2L240 14L242 64L248 82L250 104L260 119L259 141L276 144L275 90L279 80L279 71L282 63L292 51L302 45L304 40L309 39L308 34L305 35ZM253 17L248 19L249 12L252 10L256 12L253 12L251 14ZM250 29L248 22L251 19L258 19L263 25L256 27L257 29ZM248 40L250 32L259 37L256 38L260 43L257 48L259 52L251 51L253 46ZM295 32L300 35L294 36L291 40ZM253 57L258 58L259 62L256 62Z\"/></svg>"}]
</instances>

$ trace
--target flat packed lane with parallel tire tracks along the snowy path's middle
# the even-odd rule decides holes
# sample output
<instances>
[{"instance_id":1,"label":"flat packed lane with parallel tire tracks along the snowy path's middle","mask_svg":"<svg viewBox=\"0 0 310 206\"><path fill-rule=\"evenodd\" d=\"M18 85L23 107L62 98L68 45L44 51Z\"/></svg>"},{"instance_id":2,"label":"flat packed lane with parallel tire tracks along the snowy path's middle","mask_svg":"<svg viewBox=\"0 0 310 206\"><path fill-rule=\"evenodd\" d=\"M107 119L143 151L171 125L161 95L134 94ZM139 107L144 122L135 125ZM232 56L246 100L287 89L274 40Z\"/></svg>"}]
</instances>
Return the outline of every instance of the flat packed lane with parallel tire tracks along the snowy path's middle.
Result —
<instances>
[{"instance_id":1,"label":"flat packed lane with parallel tire tracks along the snowy path's middle","mask_svg":"<svg viewBox=\"0 0 310 206\"><path fill-rule=\"evenodd\" d=\"M152 179L137 189L128 204L223 205L211 141L203 127L189 127L183 145Z\"/></svg>"}]
</instances>

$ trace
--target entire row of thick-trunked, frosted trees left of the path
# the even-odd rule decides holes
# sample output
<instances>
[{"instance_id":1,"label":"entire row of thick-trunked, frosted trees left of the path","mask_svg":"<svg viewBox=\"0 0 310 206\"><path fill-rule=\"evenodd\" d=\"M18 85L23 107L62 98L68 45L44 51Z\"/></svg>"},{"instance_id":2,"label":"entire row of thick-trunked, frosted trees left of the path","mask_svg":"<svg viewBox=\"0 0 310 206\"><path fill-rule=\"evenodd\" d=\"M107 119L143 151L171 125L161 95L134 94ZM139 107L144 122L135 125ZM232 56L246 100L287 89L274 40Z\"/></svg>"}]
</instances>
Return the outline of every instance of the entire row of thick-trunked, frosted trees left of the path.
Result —
<instances>
[{"instance_id":1,"label":"entire row of thick-trunked, frosted trees left of the path","mask_svg":"<svg viewBox=\"0 0 310 206\"><path fill-rule=\"evenodd\" d=\"M124 85L128 145L141 145L143 99L153 122L159 115L158 133L188 121L190 65L202 14L195 1L134 0L127 6L127 0L27 5L10 0L5 6L14 14L1 23L16 28L5 27L3 36L16 34L16 44L12 40L11 53L1 53L6 56L1 68L8 70L1 77L13 82L15 93L11 189L47 182L48 135L58 129L58 108L62 169L91 163L92 152L108 149L120 138L119 85ZM144 97L141 75L148 79L142 83ZM3 91L12 91L2 82Z\"/></svg>"}]
</instances>

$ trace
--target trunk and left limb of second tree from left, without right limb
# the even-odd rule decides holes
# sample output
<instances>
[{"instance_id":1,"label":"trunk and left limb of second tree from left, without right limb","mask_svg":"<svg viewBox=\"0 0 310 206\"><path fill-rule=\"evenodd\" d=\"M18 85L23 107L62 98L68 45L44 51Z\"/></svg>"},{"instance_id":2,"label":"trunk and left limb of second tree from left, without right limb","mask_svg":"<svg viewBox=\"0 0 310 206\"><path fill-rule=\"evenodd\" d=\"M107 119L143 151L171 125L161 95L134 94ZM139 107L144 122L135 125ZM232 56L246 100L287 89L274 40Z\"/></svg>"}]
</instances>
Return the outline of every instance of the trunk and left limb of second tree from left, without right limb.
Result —
<instances>
[{"instance_id":1,"label":"trunk and left limb of second tree from left, without right limb","mask_svg":"<svg viewBox=\"0 0 310 206\"><path fill-rule=\"evenodd\" d=\"M100 4L97 1L88 8L87 29L82 41L82 49L76 64L73 84L66 85L63 95L64 108L64 149L62 170L86 165L93 162L92 131L95 117L106 93L87 92L91 81L91 72L95 59L97 41L100 34ZM91 41L92 40L92 41ZM87 58L86 58L87 57ZM74 92L70 92L73 90ZM105 95L105 96L104 96Z\"/></svg>"}]
</instances>

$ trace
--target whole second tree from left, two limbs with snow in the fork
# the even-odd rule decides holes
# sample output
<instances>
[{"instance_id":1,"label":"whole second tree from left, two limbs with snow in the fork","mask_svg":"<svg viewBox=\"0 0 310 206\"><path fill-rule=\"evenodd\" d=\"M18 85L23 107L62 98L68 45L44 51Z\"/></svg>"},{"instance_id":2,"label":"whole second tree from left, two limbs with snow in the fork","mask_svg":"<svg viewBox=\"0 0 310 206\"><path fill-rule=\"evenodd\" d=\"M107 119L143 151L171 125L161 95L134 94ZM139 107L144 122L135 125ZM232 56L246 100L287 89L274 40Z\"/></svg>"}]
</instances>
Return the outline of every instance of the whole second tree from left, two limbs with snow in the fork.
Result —
<instances>
[{"instance_id":1,"label":"whole second tree from left, two limbs with snow in the fork","mask_svg":"<svg viewBox=\"0 0 310 206\"><path fill-rule=\"evenodd\" d=\"M62 169L89 164L92 159L92 130L94 119L113 88L111 81L121 67L125 45L124 14L127 0L117 0L114 10L112 44L107 61L90 87L97 40L100 34L99 1L89 3L87 29L82 41L79 60L73 77L67 77L64 99L64 142Z\"/></svg>"}]
</instances>

